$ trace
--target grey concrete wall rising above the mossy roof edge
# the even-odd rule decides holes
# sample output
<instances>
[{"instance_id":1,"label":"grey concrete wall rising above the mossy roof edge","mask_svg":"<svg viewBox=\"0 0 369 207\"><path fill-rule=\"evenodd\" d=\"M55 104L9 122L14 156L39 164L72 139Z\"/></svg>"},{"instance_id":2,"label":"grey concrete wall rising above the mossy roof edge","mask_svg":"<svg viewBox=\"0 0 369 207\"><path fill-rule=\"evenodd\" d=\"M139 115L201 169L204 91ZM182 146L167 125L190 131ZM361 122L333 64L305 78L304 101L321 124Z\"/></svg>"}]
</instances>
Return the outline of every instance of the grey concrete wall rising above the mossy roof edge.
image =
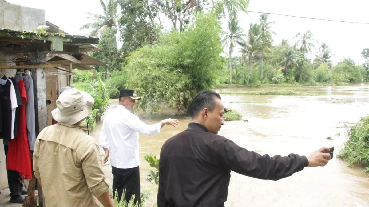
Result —
<instances>
[{"instance_id":1,"label":"grey concrete wall rising above the mossy roof edge","mask_svg":"<svg viewBox=\"0 0 369 207\"><path fill-rule=\"evenodd\" d=\"M36 30L41 22L45 24L45 10L0 0L0 28L32 31Z\"/></svg>"}]
</instances>

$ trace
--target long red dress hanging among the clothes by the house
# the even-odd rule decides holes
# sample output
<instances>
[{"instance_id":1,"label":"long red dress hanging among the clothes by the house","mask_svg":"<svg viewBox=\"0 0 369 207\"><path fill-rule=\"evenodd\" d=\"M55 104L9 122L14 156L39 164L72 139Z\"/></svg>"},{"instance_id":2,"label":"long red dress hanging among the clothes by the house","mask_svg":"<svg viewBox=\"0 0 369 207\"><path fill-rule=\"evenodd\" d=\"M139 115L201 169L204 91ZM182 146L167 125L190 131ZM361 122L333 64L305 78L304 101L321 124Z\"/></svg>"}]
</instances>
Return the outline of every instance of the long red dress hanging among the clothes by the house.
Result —
<instances>
[{"instance_id":1,"label":"long red dress hanging among the clothes by the house","mask_svg":"<svg viewBox=\"0 0 369 207\"><path fill-rule=\"evenodd\" d=\"M19 92L21 94L22 106L19 110L18 136L8 142L9 150L7 157L6 169L19 172L19 175L27 180L32 178L32 165L30 148L27 140L27 124L25 117L25 103L27 103L27 95L22 79L18 82Z\"/></svg>"}]
</instances>

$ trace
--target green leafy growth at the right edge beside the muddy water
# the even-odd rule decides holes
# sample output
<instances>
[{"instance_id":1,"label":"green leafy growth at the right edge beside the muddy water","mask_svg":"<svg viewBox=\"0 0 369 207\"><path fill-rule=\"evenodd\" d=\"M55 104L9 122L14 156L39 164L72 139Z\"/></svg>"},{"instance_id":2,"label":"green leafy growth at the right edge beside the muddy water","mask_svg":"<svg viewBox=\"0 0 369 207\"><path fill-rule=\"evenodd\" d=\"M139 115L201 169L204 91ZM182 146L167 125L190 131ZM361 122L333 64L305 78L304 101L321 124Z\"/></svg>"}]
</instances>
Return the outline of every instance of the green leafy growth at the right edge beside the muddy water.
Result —
<instances>
[{"instance_id":1,"label":"green leafy growth at the right edge beside the muddy water","mask_svg":"<svg viewBox=\"0 0 369 207\"><path fill-rule=\"evenodd\" d=\"M344 159L349 165L365 167L364 172L369 172L369 116L362 117L348 131L348 141L344 144L337 157Z\"/></svg>"}]
</instances>

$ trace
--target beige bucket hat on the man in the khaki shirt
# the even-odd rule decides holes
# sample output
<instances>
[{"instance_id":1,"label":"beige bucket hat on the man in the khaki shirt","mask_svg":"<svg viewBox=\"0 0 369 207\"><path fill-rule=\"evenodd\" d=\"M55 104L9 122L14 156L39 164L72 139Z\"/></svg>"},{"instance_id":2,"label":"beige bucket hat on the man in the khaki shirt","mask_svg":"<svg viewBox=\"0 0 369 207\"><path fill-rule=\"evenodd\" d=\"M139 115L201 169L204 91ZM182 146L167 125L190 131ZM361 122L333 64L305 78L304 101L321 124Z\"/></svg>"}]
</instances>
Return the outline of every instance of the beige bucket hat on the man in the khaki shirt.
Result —
<instances>
[{"instance_id":1,"label":"beige bucket hat on the man in the khaki shirt","mask_svg":"<svg viewBox=\"0 0 369 207\"><path fill-rule=\"evenodd\" d=\"M52 117L59 123L75 124L87 117L94 101L90 94L76 88L63 91L56 100L58 108L52 110Z\"/></svg>"}]
</instances>

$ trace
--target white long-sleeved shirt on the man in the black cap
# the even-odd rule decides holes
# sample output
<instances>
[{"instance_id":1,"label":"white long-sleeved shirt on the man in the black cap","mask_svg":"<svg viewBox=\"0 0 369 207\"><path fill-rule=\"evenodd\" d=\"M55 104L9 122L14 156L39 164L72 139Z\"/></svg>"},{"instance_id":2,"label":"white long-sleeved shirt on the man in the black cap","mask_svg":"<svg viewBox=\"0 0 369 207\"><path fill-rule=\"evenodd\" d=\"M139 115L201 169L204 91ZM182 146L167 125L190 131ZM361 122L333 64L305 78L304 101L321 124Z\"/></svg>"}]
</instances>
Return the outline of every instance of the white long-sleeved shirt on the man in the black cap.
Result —
<instances>
[{"instance_id":1,"label":"white long-sleeved shirt on the man in the black cap","mask_svg":"<svg viewBox=\"0 0 369 207\"><path fill-rule=\"evenodd\" d=\"M147 125L118 105L104 119L99 144L109 150L111 166L134 168L139 166L138 134L153 135L159 133L160 128L160 123Z\"/></svg>"}]
</instances>

